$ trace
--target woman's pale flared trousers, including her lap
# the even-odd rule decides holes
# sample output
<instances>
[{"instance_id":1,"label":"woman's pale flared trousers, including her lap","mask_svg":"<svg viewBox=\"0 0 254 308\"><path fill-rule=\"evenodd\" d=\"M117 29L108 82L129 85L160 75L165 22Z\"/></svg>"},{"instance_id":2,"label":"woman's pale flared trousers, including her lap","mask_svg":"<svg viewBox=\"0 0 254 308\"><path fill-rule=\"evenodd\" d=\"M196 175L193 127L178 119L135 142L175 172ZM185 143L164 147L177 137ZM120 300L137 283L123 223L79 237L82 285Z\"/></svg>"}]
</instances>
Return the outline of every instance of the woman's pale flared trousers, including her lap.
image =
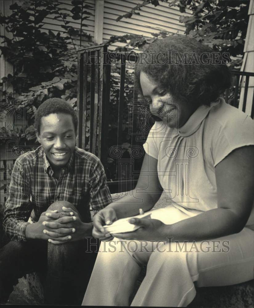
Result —
<instances>
[{"instance_id":1,"label":"woman's pale flared trousers, including her lap","mask_svg":"<svg viewBox=\"0 0 254 308\"><path fill-rule=\"evenodd\" d=\"M167 216L167 223L189 217L174 207L152 212L155 219L164 217L165 221ZM83 305L98 304L100 296L95 299L92 294L98 283L104 298L101 302L127 305L127 290L131 293L140 265L146 263L147 274L132 302L134 306L184 306L195 296L195 281L197 286L223 286L253 279L253 235L254 231L244 228L240 233L209 241L151 242L114 238L111 242L102 242L102 252L97 257ZM103 278L108 282L104 291L104 283L99 282ZM126 294L124 300L123 294Z\"/></svg>"}]
</instances>

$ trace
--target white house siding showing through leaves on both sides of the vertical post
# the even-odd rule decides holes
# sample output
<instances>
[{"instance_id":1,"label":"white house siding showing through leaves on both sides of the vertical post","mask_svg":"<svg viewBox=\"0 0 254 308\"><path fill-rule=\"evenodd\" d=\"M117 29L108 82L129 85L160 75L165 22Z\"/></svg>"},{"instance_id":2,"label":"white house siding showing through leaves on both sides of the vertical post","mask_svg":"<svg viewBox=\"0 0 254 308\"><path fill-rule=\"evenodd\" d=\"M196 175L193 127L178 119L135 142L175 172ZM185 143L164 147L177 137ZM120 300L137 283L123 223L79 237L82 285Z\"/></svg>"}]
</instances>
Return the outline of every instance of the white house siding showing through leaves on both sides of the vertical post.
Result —
<instances>
[{"instance_id":1,"label":"white house siding showing through leaves on both sides of the vertical post","mask_svg":"<svg viewBox=\"0 0 254 308\"><path fill-rule=\"evenodd\" d=\"M11 11L9 6L14 3L14 0L0 1L0 11L3 15L9 15ZM113 35L124 34L139 34L146 38L151 38L151 33L157 33L160 30L166 30L170 33L183 34L185 26L179 22L179 17L182 15L189 15L187 13L180 13L178 8L170 8L168 2L159 2L160 5L153 6L151 4L143 6L139 11L140 15L133 14L131 18L123 18L119 22L116 18L120 15L126 14L137 4L142 3L142 0L87 0L86 3L92 8L88 9L91 12L91 16L85 20L87 27L83 27L83 30L87 34L91 35L91 41L96 43L103 43L110 39ZM72 9L71 0L61 0L60 7L64 10L62 12L70 12ZM95 8L100 13L95 14ZM103 6L103 7L102 7ZM101 8L102 7L102 8ZM62 22L54 19L54 14L45 18L45 25L42 27L42 31L48 32L48 30L57 33L58 31L62 36L66 33L61 28ZM95 20L97 18L97 20ZM79 29L79 21L73 20L71 17L67 18L70 21L68 25ZM96 33L97 31L97 33ZM99 32L99 33L98 33ZM6 34L4 28L1 28L1 34ZM99 39L96 39L98 38ZM87 39L83 39L83 44ZM76 41L77 42L77 41ZM115 49L117 46L124 46L125 43L112 44L110 49ZM3 57L1 57L0 78L7 76L12 72L10 64L6 63Z\"/></svg>"}]
</instances>

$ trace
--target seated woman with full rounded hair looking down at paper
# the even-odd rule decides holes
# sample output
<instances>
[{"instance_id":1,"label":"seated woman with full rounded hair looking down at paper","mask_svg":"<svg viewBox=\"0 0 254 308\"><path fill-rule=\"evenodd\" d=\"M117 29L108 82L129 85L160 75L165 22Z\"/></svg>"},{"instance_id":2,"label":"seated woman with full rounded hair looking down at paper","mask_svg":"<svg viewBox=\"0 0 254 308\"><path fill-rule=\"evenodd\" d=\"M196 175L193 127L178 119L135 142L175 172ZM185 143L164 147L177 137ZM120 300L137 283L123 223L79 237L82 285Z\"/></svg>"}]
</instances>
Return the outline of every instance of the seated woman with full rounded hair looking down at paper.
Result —
<instances>
[{"instance_id":1,"label":"seated woman with full rounded hair looking down at paper","mask_svg":"<svg viewBox=\"0 0 254 308\"><path fill-rule=\"evenodd\" d=\"M155 124L135 189L94 217L102 243L83 305L187 306L195 285L253 279L254 125L222 97L226 60L182 35L140 56L135 84ZM153 210L161 195L166 207ZM103 227L140 208L145 217L128 220L134 231Z\"/></svg>"}]
</instances>

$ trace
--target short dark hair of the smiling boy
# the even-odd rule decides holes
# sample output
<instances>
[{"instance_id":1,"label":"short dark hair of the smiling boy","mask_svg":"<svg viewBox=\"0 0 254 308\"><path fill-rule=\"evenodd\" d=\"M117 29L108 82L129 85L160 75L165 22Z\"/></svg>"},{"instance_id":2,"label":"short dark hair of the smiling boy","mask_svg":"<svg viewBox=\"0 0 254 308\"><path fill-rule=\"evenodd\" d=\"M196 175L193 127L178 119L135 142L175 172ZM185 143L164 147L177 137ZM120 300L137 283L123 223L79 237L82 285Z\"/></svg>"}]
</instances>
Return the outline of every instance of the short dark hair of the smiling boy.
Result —
<instances>
[{"instance_id":1,"label":"short dark hair of the smiling boy","mask_svg":"<svg viewBox=\"0 0 254 308\"><path fill-rule=\"evenodd\" d=\"M71 115L74 128L75 128L75 133L77 133L78 118L77 118L76 112L65 100L60 99L60 98L47 99L37 109L35 113L34 127L38 133L40 133L42 117L50 115L51 113L65 113L65 114Z\"/></svg>"}]
</instances>

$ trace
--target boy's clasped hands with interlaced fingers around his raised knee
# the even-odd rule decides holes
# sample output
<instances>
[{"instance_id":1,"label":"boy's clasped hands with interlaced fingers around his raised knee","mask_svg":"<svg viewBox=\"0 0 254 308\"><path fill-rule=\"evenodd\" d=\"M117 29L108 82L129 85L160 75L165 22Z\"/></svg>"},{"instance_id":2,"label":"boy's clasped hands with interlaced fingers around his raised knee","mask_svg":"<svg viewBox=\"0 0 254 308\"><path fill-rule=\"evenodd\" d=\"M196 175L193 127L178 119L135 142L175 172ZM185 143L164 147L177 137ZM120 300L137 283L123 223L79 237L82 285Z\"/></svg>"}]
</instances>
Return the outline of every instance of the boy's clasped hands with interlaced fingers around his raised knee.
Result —
<instances>
[{"instance_id":1,"label":"boy's clasped hands with interlaced fingers around his raised knee","mask_svg":"<svg viewBox=\"0 0 254 308\"><path fill-rule=\"evenodd\" d=\"M91 223L83 223L79 213L71 208L43 212L36 224L37 238L60 245L69 241L79 241L91 236Z\"/></svg>"}]
</instances>

